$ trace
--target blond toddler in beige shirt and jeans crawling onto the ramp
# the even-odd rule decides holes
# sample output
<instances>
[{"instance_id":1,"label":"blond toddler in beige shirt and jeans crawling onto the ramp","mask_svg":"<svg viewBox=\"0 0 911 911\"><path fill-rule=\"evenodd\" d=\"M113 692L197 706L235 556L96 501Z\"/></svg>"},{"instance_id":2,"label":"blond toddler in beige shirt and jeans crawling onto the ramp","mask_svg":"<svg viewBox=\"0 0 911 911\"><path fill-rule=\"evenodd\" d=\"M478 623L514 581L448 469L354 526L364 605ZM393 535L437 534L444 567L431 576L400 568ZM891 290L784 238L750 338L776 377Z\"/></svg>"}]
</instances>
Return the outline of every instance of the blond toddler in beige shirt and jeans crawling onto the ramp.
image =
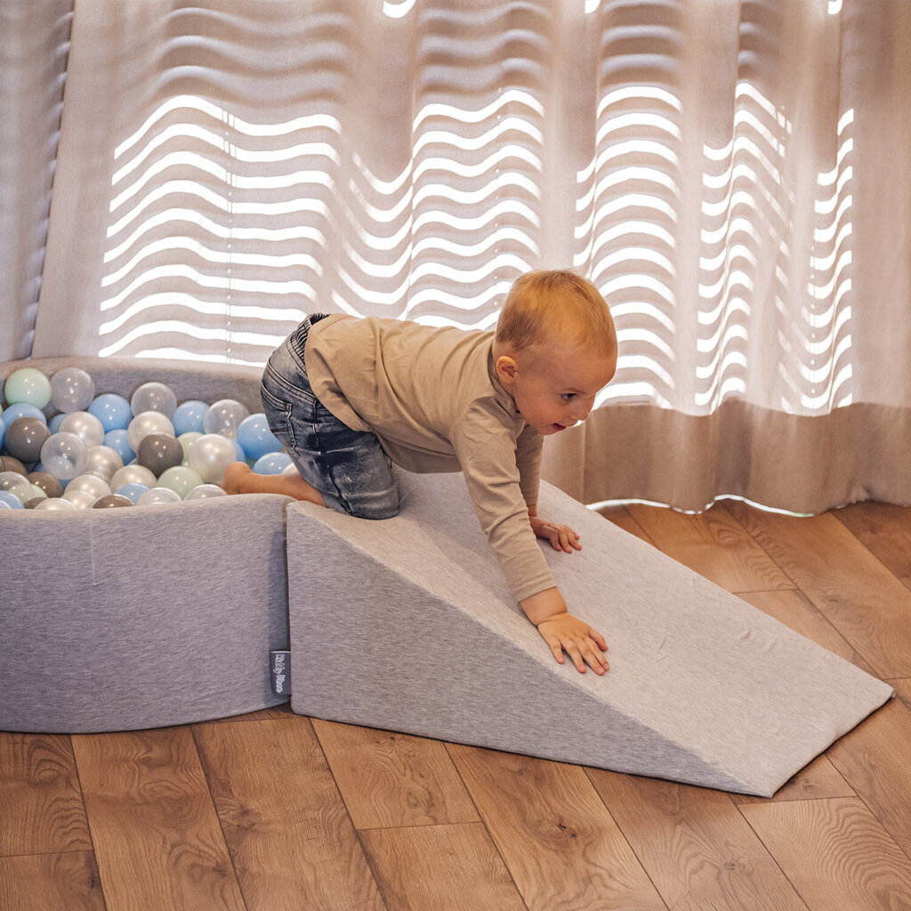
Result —
<instances>
[{"instance_id":1,"label":"blond toddler in beige shirt and jeans crawling onto the ramp","mask_svg":"<svg viewBox=\"0 0 911 911\"><path fill-rule=\"evenodd\" d=\"M307 317L272 353L262 404L299 474L229 466L229 493L280 493L363 518L398 511L391 461L461 471L500 567L554 657L608 669L597 630L568 612L535 537L580 549L537 515L545 436L584 421L617 366L595 286L533 271L507 294L496 333L342 313Z\"/></svg>"}]
</instances>

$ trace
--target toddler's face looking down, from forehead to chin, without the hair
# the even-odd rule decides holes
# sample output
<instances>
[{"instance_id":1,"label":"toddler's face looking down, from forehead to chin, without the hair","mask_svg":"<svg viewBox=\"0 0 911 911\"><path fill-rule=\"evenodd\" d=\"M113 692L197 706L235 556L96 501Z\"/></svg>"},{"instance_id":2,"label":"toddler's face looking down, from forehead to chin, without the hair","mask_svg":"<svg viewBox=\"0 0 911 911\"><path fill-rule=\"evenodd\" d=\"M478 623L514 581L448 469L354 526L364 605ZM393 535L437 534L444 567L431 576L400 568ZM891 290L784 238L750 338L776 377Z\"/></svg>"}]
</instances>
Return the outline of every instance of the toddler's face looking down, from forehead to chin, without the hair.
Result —
<instances>
[{"instance_id":1,"label":"toddler's face looking down, from forehead to chin, without the hair","mask_svg":"<svg viewBox=\"0 0 911 911\"><path fill-rule=\"evenodd\" d=\"M595 396L617 370L617 353L571 343L541 345L499 358L496 369L526 423L552 435L589 416Z\"/></svg>"}]
</instances>

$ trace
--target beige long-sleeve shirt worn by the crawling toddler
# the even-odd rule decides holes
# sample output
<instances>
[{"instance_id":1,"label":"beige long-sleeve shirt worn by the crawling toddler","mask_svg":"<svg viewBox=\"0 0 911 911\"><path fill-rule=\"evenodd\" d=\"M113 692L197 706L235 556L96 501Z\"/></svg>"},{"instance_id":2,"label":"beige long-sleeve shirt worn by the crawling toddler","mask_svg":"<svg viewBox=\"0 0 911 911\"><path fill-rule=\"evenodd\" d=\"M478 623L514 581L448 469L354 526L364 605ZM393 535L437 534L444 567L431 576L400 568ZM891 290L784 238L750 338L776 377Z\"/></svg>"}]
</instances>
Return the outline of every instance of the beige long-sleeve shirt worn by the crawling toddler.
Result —
<instances>
[{"instance_id":1,"label":"beige long-sleeve shirt worn by the crawling toddler","mask_svg":"<svg viewBox=\"0 0 911 911\"><path fill-rule=\"evenodd\" d=\"M344 425L372 431L408 471L462 471L516 599L555 585L528 522L543 438L499 382L494 333L333 314L304 360L313 393Z\"/></svg>"}]
</instances>

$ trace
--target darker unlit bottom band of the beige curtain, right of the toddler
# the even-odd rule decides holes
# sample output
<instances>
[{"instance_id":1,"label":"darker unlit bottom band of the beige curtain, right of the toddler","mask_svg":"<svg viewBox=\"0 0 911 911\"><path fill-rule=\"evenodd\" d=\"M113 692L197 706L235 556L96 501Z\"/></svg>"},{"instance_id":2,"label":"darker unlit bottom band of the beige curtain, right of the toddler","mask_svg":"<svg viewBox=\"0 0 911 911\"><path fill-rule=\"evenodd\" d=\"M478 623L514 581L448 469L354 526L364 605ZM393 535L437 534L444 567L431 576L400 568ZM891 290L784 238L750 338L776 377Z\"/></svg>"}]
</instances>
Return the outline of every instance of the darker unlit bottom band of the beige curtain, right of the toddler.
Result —
<instances>
[{"instance_id":1,"label":"darker unlit bottom band of the beige curtain, right of the toddler","mask_svg":"<svg viewBox=\"0 0 911 911\"><path fill-rule=\"evenodd\" d=\"M853 404L789 415L733 400L711 415L609 405L548 440L543 477L585 503L641 499L701 510L725 496L820 513L911 503L911 409Z\"/></svg>"}]
</instances>

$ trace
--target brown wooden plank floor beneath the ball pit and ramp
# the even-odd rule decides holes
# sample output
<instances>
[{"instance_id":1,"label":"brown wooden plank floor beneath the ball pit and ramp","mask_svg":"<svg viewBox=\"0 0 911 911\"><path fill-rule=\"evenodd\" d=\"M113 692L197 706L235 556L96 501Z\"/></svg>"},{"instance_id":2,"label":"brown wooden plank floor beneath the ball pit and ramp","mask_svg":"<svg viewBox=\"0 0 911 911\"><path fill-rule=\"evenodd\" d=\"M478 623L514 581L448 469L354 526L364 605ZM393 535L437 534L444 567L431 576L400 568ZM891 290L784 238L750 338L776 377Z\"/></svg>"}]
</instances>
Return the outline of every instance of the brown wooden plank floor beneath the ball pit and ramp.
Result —
<instances>
[{"instance_id":1,"label":"brown wooden plank floor beneath the ball pit and ramp","mask_svg":"<svg viewBox=\"0 0 911 911\"><path fill-rule=\"evenodd\" d=\"M0 909L911 908L911 509L608 517L899 698L773 800L284 710L0 734Z\"/></svg>"}]
</instances>

